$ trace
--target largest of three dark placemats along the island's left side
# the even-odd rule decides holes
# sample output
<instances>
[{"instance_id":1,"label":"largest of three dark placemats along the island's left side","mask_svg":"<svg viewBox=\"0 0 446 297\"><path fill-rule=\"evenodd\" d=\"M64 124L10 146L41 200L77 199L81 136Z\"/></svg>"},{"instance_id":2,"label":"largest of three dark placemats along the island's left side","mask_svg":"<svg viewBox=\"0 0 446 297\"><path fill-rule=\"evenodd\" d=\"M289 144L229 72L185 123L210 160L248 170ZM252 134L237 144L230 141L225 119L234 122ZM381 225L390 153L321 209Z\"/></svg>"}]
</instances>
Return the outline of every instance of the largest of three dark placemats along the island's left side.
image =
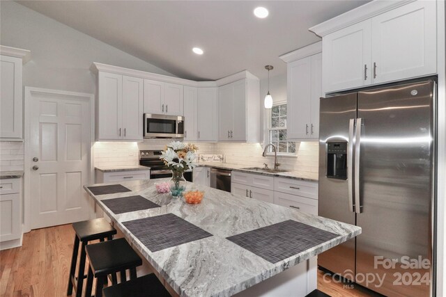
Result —
<instances>
[{"instance_id":1,"label":"largest of three dark placemats along the island's left side","mask_svg":"<svg viewBox=\"0 0 446 297\"><path fill-rule=\"evenodd\" d=\"M174 214L129 220L123 225L152 252L213 236Z\"/></svg>"}]
</instances>

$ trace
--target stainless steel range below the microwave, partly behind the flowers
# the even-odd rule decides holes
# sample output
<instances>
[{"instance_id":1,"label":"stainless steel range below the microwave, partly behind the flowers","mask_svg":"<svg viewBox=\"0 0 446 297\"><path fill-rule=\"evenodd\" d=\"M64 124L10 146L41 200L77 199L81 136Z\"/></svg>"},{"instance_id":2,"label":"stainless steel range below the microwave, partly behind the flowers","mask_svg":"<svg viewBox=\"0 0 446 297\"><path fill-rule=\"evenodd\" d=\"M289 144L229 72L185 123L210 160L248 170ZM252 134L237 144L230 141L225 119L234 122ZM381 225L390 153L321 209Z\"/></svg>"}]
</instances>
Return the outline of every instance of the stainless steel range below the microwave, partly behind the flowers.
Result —
<instances>
[{"instance_id":1,"label":"stainless steel range below the microwave, partly behind the flowers","mask_svg":"<svg viewBox=\"0 0 446 297\"><path fill-rule=\"evenodd\" d=\"M160 159L162 150L140 150L139 165L151 168L151 179L171 177L172 172ZM192 182L192 170L184 172L187 182Z\"/></svg>"}]
</instances>

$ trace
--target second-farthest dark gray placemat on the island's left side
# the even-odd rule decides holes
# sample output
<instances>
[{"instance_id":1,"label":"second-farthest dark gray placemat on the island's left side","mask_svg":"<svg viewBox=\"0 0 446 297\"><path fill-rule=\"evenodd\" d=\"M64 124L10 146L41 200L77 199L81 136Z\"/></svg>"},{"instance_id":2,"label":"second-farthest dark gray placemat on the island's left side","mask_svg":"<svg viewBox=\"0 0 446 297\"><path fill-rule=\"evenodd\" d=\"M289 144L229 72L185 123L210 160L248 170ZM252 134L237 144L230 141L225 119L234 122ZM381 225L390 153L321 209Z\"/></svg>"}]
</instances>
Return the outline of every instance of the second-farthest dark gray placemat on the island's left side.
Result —
<instances>
[{"instance_id":1,"label":"second-farthest dark gray placemat on the island's left side","mask_svg":"<svg viewBox=\"0 0 446 297\"><path fill-rule=\"evenodd\" d=\"M100 201L104 203L111 211L113 211L114 214L123 214L130 211L160 207L160 205L153 203L151 200L147 200L140 195L102 199Z\"/></svg>"}]
</instances>

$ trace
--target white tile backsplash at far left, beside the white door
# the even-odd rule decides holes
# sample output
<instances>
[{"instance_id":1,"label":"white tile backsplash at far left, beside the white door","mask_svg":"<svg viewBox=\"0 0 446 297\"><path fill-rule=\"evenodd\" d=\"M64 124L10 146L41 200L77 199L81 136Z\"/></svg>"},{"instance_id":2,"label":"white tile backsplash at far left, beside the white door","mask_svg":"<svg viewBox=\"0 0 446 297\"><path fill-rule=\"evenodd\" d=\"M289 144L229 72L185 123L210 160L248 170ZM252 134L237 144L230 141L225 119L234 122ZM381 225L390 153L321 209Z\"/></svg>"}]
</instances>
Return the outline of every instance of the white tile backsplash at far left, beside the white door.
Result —
<instances>
[{"instance_id":1,"label":"white tile backsplash at far left, beside the white door","mask_svg":"<svg viewBox=\"0 0 446 297\"><path fill-rule=\"evenodd\" d=\"M24 170L24 143L0 141L0 171Z\"/></svg>"}]
</instances>

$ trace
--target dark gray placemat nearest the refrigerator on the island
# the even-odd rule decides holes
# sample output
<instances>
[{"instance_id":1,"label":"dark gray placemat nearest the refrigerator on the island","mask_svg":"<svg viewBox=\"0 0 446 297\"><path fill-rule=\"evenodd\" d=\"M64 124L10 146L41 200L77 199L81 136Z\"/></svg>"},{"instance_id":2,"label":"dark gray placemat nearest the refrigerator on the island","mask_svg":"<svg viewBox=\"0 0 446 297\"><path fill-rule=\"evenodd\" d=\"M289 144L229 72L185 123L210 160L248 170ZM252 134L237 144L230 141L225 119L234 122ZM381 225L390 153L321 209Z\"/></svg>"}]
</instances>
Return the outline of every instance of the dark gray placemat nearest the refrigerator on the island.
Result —
<instances>
[{"instance_id":1,"label":"dark gray placemat nearest the refrigerator on the island","mask_svg":"<svg viewBox=\"0 0 446 297\"><path fill-rule=\"evenodd\" d=\"M285 220L226 239L271 263L277 263L337 236L295 220Z\"/></svg>"}]
</instances>

